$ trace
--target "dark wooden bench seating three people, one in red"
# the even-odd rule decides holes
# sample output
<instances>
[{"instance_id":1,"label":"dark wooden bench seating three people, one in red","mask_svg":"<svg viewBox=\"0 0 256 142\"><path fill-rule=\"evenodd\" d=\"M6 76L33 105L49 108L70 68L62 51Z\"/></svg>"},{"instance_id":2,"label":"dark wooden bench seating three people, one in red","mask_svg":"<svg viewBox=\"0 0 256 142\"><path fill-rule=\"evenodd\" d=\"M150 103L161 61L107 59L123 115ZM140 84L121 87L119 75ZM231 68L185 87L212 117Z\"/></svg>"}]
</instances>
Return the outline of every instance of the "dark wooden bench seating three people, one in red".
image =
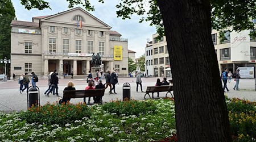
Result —
<instances>
[{"instance_id":1,"label":"dark wooden bench seating three people, one in red","mask_svg":"<svg viewBox=\"0 0 256 142\"><path fill-rule=\"evenodd\" d=\"M63 91L63 98L60 99L59 103L67 102L68 99L72 98L84 98L84 97L100 97L104 96L105 89L94 89L94 90L65 90ZM102 103L102 100L100 100Z\"/></svg>"}]
</instances>

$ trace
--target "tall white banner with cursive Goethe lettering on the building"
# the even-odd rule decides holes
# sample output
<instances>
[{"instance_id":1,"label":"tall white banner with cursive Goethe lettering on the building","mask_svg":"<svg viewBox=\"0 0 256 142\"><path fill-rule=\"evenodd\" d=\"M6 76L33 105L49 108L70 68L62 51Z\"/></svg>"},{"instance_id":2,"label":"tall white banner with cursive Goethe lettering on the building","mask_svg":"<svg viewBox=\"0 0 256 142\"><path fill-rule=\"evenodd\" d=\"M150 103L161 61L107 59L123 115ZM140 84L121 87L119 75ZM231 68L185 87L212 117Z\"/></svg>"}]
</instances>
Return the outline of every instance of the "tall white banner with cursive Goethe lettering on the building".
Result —
<instances>
[{"instance_id":1,"label":"tall white banner with cursive Goethe lettering on the building","mask_svg":"<svg viewBox=\"0 0 256 142\"><path fill-rule=\"evenodd\" d=\"M250 60L250 31L231 32L230 51L231 61Z\"/></svg>"}]
</instances>

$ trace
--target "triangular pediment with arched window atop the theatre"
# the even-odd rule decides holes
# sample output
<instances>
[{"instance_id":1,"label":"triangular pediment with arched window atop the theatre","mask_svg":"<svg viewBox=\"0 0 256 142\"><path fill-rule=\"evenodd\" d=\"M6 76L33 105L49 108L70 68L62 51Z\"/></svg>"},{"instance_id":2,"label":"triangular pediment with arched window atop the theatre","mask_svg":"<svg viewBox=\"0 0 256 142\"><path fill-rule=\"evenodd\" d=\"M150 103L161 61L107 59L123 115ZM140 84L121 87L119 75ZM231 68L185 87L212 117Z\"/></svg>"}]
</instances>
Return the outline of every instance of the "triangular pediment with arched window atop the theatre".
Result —
<instances>
[{"instance_id":1,"label":"triangular pediment with arched window atop the theatre","mask_svg":"<svg viewBox=\"0 0 256 142\"><path fill-rule=\"evenodd\" d=\"M80 20L82 26L92 26L108 29L112 28L108 24L93 16L92 14L89 14L89 12L81 9L81 7L76 7L71 10L67 10L58 14L47 16L46 18L42 18L40 19L40 24L42 24L42 22L53 22L77 25L77 23L80 24Z\"/></svg>"}]
</instances>

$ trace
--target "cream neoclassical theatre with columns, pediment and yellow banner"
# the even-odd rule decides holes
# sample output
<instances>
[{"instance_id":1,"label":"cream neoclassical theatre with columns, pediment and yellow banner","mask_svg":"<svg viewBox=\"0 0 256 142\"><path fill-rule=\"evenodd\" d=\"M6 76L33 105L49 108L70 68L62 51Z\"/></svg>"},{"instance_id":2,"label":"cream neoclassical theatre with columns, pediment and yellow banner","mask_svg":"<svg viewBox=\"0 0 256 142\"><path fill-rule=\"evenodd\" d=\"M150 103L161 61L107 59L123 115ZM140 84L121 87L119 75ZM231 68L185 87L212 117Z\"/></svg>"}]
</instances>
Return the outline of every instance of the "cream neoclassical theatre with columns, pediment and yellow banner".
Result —
<instances>
[{"instance_id":1,"label":"cream neoclassical theatre with columns, pediment and yellow banner","mask_svg":"<svg viewBox=\"0 0 256 142\"><path fill-rule=\"evenodd\" d=\"M32 22L11 22L11 73L35 72L46 77L57 70L85 75L92 53L99 53L103 70L128 74L128 40L112 27L76 7L54 15L37 16Z\"/></svg>"}]
</instances>

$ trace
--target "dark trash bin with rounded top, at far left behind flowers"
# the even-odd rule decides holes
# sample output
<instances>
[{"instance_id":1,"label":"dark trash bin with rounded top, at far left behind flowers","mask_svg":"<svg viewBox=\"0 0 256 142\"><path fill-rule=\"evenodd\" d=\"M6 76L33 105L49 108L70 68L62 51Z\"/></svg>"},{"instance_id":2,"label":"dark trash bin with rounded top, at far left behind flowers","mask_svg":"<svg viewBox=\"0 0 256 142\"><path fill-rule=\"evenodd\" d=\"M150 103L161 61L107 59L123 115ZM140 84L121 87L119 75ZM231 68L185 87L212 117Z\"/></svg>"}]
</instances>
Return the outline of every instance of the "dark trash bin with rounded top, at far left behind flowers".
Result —
<instances>
[{"instance_id":1,"label":"dark trash bin with rounded top, at far left behind flowers","mask_svg":"<svg viewBox=\"0 0 256 142\"><path fill-rule=\"evenodd\" d=\"M36 106L40 106L39 87L38 86L28 87L27 108L32 107L33 104Z\"/></svg>"}]
</instances>

